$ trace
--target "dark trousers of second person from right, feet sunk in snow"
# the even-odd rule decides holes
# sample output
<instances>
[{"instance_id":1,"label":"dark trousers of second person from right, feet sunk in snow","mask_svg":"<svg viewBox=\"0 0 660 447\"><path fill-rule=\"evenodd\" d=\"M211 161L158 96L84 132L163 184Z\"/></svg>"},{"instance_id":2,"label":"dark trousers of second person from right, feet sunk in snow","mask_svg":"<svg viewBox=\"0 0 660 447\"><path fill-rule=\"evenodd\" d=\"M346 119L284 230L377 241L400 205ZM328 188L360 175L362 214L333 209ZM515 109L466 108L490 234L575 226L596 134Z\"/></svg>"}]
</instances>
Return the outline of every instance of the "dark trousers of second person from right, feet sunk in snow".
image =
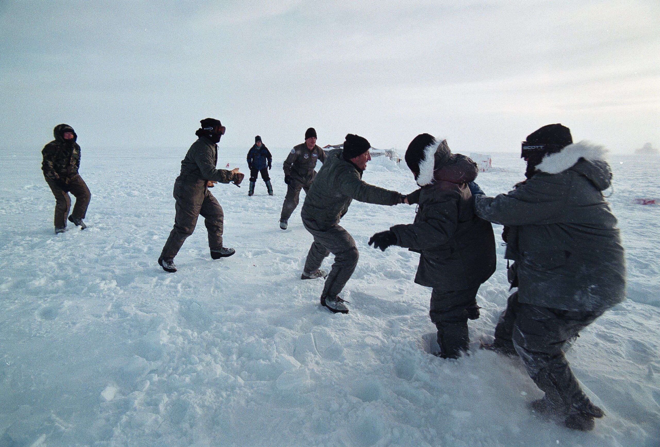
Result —
<instances>
[{"instance_id":1,"label":"dark trousers of second person from right, feet sunk in snow","mask_svg":"<svg viewBox=\"0 0 660 447\"><path fill-rule=\"evenodd\" d=\"M467 351L470 338L467 320L479 318L477 287L444 291L434 288L431 293L431 321L438 328L440 355L455 359Z\"/></svg>"}]
</instances>

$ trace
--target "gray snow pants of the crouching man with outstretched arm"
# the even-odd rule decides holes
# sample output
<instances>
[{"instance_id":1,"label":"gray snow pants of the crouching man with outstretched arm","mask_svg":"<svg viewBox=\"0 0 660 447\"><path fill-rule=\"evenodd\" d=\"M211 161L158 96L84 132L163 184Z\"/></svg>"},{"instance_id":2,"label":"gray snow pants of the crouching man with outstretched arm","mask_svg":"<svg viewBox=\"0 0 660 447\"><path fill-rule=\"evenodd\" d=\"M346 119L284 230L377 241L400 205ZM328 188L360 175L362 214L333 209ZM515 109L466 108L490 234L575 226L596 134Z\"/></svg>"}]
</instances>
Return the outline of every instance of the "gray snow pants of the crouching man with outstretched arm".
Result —
<instances>
[{"instance_id":1,"label":"gray snow pants of the crouching man with outstretched arm","mask_svg":"<svg viewBox=\"0 0 660 447\"><path fill-rule=\"evenodd\" d=\"M334 297L342 291L350 276L358 265L358 248L353 237L339 225L328 229L319 229L317 222L308 214L302 214L302 224L314 236L314 243L310 247L305 261L304 273L315 272L330 253L335 255L332 270L325 279L323 297Z\"/></svg>"}]
</instances>

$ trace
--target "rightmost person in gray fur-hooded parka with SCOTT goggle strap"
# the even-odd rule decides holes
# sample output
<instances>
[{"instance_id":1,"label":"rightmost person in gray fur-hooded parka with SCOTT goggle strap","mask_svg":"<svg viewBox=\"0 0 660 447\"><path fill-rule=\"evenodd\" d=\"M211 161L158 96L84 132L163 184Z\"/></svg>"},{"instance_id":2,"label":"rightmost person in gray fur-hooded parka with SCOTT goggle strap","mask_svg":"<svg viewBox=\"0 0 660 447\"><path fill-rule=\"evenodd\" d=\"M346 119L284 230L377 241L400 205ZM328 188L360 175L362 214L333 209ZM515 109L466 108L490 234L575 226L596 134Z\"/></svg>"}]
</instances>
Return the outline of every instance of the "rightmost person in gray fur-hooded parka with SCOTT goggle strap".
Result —
<instances>
[{"instance_id":1,"label":"rightmost person in gray fur-hooded parka with SCOTT goggle strap","mask_svg":"<svg viewBox=\"0 0 660 447\"><path fill-rule=\"evenodd\" d=\"M535 413L589 431L603 410L591 403L564 349L581 330L625 299L626 266L616 217L602 191L612 171L602 146L573 144L568 127L529 134L521 157L527 180L507 194L475 196L475 212L508 225L505 257L513 260L506 311L490 346L517 353L545 396Z\"/></svg>"}]
</instances>

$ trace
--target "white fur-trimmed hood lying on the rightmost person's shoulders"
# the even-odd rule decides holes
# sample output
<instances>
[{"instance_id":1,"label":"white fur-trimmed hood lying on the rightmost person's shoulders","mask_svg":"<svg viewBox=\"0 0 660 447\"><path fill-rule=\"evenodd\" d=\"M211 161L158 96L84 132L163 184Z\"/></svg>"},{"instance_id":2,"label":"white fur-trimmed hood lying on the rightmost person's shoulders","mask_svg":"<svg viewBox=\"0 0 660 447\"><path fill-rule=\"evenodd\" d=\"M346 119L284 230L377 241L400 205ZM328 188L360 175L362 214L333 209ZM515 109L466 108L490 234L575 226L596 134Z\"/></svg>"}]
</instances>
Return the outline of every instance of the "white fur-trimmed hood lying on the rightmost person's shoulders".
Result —
<instances>
[{"instance_id":1,"label":"white fur-trimmed hood lying on the rightmost person's shoulders","mask_svg":"<svg viewBox=\"0 0 660 447\"><path fill-rule=\"evenodd\" d=\"M607 149L587 140L569 144L560 152L548 154L537 169L548 174L558 174L573 169L584 175L599 191L612 184L612 170L607 163Z\"/></svg>"}]
</instances>

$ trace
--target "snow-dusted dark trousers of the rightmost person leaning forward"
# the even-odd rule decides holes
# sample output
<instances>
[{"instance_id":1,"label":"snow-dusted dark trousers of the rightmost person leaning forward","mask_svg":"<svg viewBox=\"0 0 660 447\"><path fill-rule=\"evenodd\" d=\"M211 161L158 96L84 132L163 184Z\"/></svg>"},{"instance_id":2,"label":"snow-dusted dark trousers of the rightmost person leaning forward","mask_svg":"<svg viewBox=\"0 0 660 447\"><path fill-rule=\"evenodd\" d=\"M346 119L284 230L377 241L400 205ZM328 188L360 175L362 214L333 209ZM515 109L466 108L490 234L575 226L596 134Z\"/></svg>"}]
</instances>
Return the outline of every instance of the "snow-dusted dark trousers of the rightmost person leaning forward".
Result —
<instances>
[{"instance_id":1,"label":"snow-dusted dark trousers of the rightmost person leaning forward","mask_svg":"<svg viewBox=\"0 0 660 447\"><path fill-rule=\"evenodd\" d=\"M515 292L495 328L495 342L513 345L527 373L554 405L569 408L588 402L564 350L602 313L564 311L518 301Z\"/></svg>"}]
</instances>

